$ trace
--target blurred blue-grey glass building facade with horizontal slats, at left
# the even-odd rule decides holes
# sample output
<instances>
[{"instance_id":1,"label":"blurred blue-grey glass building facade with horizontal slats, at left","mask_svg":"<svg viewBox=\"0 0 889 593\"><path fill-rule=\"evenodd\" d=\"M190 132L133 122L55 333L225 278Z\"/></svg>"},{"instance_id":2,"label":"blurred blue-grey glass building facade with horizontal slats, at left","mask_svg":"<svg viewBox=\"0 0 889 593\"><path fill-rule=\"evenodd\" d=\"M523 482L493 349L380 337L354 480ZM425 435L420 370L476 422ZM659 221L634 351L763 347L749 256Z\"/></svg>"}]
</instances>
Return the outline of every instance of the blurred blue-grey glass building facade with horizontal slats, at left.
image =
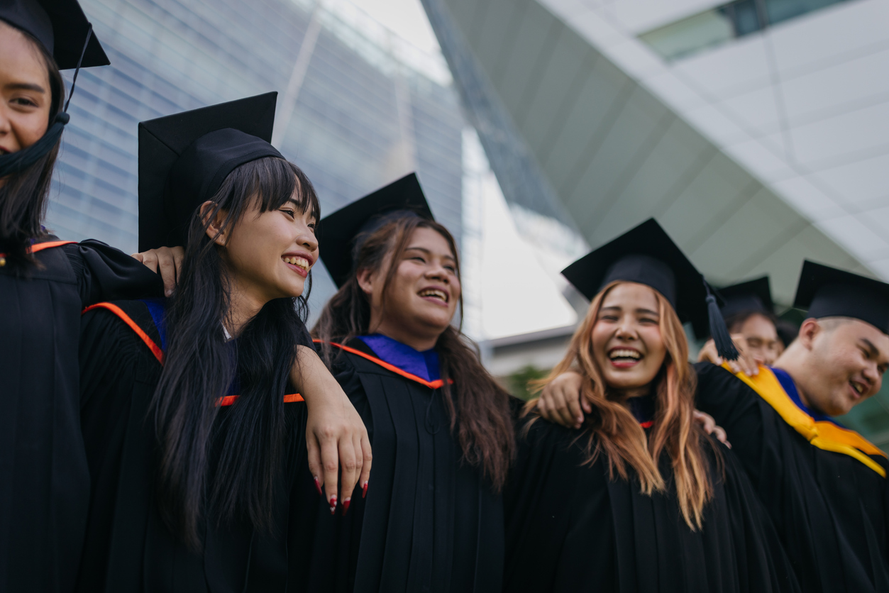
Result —
<instances>
[{"instance_id":1,"label":"blurred blue-grey glass building facade with horizontal slats, at left","mask_svg":"<svg viewBox=\"0 0 889 593\"><path fill-rule=\"evenodd\" d=\"M440 56L343 1L81 4L111 66L77 79L47 222L57 235L136 251L138 123L277 91L273 143L308 174L323 213L417 171L460 240L465 122ZM333 286L313 276L317 310Z\"/></svg>"}]
</instances>

